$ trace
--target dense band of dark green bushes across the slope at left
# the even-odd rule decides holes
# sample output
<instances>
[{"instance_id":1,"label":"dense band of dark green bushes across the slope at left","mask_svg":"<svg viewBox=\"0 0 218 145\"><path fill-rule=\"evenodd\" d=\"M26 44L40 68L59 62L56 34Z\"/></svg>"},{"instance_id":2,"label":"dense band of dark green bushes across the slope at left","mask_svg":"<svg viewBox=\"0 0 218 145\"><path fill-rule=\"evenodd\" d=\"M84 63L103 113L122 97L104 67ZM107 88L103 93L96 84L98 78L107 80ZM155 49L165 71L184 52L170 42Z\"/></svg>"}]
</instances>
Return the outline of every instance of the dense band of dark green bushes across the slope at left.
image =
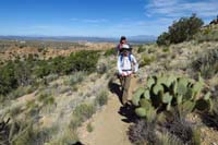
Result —
<instances>
[{"instance_id":1,"label":"dense band of dark green bushes across the slope at left","mask_svg":"<svg viewBox=\"0 0 218 145\"><path fill-rule=\"evenodd\" d=\"M65 58L57 57L50 60L39 60L28 56L24 61L9 61L0 67L0 95L5 96L19 86L37 84L38 78L44 84L48 84L59 75L81 71L95 72L98 58L98 51L82 50L72 52Z\"/></svg>"}]
</instances>

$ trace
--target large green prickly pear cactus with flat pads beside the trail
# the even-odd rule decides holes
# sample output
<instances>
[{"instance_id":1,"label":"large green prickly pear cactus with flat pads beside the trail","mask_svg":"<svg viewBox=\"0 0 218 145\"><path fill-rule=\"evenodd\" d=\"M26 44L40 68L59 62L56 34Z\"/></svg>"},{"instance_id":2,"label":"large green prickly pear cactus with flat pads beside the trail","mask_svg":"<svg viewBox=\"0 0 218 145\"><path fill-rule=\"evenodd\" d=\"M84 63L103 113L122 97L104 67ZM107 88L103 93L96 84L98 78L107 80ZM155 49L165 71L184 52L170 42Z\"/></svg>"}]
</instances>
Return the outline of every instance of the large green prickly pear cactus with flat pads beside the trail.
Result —
<instances>
[{"instance_id":1,"label":"large green prickly pear cactus with flat pads beside the trail","mask_svg":"<svg viewBox=\"0 0 218 145\"><path fill-rule=\"evenodd\" d=\"M206 111L210 108L210 93L202 95L204 80L199 76L194 81L184 76L161 75L149 76L145 87L140 87L133 96L135 112L143 118L154 118L158 108L170 111L177 107L181 112L191 112L194 109ZM148 117L149 116L149 117Z\"/></svg>"}]
</instances>

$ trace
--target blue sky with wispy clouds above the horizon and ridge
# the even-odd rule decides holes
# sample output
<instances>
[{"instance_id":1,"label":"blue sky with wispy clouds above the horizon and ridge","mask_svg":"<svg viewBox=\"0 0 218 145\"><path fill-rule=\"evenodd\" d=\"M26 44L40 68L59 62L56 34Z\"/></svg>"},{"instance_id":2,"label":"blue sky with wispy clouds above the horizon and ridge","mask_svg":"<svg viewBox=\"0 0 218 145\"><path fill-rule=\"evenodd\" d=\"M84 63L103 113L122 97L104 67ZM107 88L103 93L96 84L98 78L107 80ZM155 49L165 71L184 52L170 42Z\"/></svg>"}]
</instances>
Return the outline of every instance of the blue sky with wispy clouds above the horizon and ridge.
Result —
<instances>
[{"instance_id":1,"label":"blue sky with wispy clouds above the horizon and ridge","mask_svg":"<svg viewBox=\"0 0 218 145\"><path fill-rule=\"evenodd\" d=\"M0 35L155 35L174 20L218 14L217 0L1 0Z\"/></svg>"}]
</instances>

